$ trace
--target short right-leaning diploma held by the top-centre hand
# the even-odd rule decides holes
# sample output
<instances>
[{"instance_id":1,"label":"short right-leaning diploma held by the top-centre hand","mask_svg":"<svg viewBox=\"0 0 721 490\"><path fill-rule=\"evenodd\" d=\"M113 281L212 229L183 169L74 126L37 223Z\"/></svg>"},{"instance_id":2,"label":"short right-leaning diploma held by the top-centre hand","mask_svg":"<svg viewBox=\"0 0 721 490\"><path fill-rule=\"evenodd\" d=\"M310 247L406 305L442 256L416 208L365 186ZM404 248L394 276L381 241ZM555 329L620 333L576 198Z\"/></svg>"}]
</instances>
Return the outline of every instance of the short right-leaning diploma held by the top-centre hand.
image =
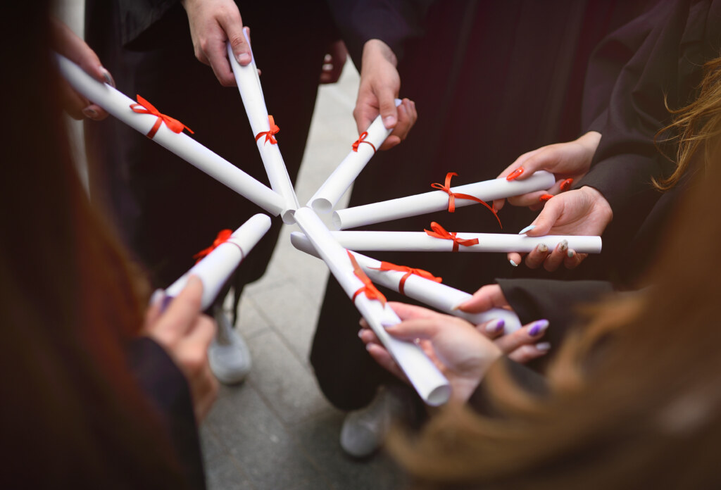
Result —
<instances>
[{"instance_id":1,"label":"short right-leaning diploma held by the top-centre hand","mask_svg":"<svg viewBox=\"0 0 721 490\"><path fill-rule=\"evenodd\" d=\"M396 107L400 104L401 100L396 99ZM376 117L365 131L368 134L358 143L358 151L351 149L348 152L307 205L317 213L329 213L392 132L393 129L386 129L380 115Z\"/></svg>"}]
</instances>

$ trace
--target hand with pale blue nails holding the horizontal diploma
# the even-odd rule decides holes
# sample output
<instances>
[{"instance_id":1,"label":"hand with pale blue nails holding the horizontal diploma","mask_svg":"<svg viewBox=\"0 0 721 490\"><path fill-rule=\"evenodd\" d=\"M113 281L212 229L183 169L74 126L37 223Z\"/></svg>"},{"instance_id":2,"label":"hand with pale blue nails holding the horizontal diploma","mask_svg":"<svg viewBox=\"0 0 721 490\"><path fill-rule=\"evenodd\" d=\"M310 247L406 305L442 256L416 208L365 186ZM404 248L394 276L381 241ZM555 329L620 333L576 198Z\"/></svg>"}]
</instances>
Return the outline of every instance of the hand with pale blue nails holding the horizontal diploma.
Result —
<instances>
[{"instance_id":1,"label":"hand with pale blue nails holding the horizontal diploma","mask_svg":"<svg viewBox=\"0 0 721 490\"><path fill-rule=\"evenodd\" d=\"M548 200L534 222L522 231L527 236L601 235L613 218L611 205L601 192L584 186ZM531 269L543 265L547 271L554 271L561 264L574 269L586 257L588 254L577 254L569 249L564 240L552 251L545 244L539 244L526 255L526 265ZM517 252L508 254L513 267L521 263L521 258L522 254Z\"/></svg>"}]
</instances>

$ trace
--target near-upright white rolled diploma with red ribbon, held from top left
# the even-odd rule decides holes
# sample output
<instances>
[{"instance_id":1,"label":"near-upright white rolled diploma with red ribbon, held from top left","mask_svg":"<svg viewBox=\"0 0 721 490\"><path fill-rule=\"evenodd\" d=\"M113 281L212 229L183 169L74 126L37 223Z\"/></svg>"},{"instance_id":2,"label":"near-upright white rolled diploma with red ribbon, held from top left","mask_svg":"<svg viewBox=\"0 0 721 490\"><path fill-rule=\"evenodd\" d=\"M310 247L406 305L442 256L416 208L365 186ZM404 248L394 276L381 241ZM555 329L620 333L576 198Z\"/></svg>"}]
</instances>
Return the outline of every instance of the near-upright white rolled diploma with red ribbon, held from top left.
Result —
<instances>
[{"instance_id":1,"label":"near-upright white rolled diploma with red ribbon, held from top left","mask_svg":"<svg viewBox=\"0 0 721 490\"><path fill-rule=\"evenodd\" d=\"M248 45L250 45L245 30L243 30L243 34L248 41ZM250 128L253 131L253 138L255 138L259 133L270 130L263 89L260 86L260 77L255 66L255 55L252 54L251 50L250 63L246 66L240 66L235 59L230 43L227 43L227 49L240 97L243 99L245 112L248 115ZM285 223L293 223L293 213L298 209L298 198L296 197L296 191L293 190L293 182L291 182L291 177L288 175L288 169L285 161L283 161L283 155L280 154L278 143L271 144L270 141L265 141L265 135L258 138L256 143L263 166L265 166L265 173L268 176L268 181L270 181L270 187L273 187L273 190L283 197L283 211L280 215Z\"/></svg>"}]
</instances>

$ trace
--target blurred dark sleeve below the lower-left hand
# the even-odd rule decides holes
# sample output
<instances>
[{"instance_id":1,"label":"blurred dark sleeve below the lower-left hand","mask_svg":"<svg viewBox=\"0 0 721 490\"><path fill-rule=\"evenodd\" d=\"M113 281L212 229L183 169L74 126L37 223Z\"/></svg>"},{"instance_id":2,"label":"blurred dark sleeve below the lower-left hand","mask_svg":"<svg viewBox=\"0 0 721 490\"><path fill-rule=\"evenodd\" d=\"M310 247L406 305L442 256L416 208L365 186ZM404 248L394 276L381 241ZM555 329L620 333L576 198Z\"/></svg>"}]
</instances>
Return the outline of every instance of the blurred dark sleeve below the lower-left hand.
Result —
<instances>
[{"instance_id":1,"label":"blurred dark sleeve below the lower-left hand","mask_svg":"<svg viewBox=\"0 0 721 490\"><path fill-rule=\"evenodd\" d=\"M149 337L128 345L128 365L159 420L167 429L190 488L205 488L203 458L190 388L167 352Z\"/></svg>"}]
</instances>

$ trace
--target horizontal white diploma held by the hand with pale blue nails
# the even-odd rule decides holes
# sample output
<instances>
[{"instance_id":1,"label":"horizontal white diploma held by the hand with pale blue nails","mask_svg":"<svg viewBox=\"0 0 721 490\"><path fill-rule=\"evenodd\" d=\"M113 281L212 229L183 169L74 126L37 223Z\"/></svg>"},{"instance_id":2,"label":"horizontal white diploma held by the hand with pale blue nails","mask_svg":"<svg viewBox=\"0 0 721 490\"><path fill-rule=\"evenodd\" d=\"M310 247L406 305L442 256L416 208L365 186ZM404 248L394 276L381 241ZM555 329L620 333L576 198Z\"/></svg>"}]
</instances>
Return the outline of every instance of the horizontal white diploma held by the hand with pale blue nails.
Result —
<instances>
[{"instance_id":1,"label":"horizontal white diploma held by the hand with pale blue nails","mask_svg":"<svg viewBox=\"0 0 721 490\"><path fill-rule=\"evenodd\" d=\"M428 236L417 231L332 231L341 246L353 251L453 251L454 242ZM600 236L546 235L526 236L503 233L456 233L459 239L478 239L477 245L459 246L459 251L529 252L536 245L546 244L553 250L564 240L568 248L580 254L601 252Z\"/></svg>"}]
</instances>

